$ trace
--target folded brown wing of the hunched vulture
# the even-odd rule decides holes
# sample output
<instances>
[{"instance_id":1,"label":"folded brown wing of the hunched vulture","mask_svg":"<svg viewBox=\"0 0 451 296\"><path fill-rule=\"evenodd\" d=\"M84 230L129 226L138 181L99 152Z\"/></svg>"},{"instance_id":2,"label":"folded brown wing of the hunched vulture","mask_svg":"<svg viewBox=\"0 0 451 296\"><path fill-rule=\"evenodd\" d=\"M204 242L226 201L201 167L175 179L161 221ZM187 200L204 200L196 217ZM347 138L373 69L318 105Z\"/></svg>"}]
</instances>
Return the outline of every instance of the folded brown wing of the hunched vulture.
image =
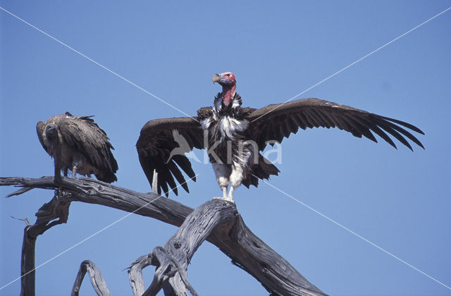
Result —
<instances>
[{"instance_id":1,"label":"folded brown wing of the hunched vulture","mask_svg":"<svg viewBox=\"0 0 451 296\"><path fill-rule=\"evenodd\" d=\"M59 132L66 144L75 147L101 171L101 175L96 175L99 180L111 183L118 180L114 175L118 163L111 152L114 148L106 132L91 117L62 114L57 123Z\"/></svg>"}]
</instances>

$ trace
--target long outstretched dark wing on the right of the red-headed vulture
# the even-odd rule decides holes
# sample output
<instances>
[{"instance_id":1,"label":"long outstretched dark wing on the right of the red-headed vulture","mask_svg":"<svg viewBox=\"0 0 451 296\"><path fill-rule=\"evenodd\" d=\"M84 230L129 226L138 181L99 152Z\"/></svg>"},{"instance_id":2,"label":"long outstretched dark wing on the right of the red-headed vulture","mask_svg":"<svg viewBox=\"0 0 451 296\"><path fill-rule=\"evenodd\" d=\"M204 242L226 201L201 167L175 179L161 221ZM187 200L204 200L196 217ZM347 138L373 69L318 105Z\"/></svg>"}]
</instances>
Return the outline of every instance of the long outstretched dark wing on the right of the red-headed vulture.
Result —
<instances>
[{"instance_id":1,"label":"long outstretched dark wing on the right of the red-headed vulture","mask_svg":"<svg viewBox=\"0 0 451 296\"><path fill-rule=\"evenodd\" d=\"M388 144L396 148L388 134L412 150L407 137L424 149L423 144L409 130L424 135L414 125L397 119L380 116L350 106L336 104L321 99L299 99L285 104L271 104L257 109L249 115L259 149L266 147L267 141L281 142L283 137L296 133L298 128L339 128L351 132L356 137L365 136L377 142L373 133L379 135Z\"/></svg>"}]
</instances>

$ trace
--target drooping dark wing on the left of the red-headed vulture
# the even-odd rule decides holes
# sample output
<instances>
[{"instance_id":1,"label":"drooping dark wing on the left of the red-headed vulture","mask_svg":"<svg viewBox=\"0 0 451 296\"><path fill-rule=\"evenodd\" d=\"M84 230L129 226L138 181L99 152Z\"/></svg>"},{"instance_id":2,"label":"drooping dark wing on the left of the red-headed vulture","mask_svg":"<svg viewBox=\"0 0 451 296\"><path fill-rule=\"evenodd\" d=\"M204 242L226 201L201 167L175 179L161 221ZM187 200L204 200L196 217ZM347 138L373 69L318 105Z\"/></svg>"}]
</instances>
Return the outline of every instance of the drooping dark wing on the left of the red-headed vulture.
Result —
<instances>
[{"instance_id":1,"label":"drooping dark wing on the left of the red-headed vulture","mask_svg":"<svg viewBox=\"0 0 451 296\"><path fill-rule=\"evenodd\" d=\"M178 195L174 177L183 189L190 192L180 168L188 177L196 180L190 160L185 153L193 148L203 149L203 135L200 123L190 117L156 119L144 125L136 149L142 169L151 185L154 170L158 173L159 194L163 189L166 197L169 190Z\"/></svg>"}]
</instances>

